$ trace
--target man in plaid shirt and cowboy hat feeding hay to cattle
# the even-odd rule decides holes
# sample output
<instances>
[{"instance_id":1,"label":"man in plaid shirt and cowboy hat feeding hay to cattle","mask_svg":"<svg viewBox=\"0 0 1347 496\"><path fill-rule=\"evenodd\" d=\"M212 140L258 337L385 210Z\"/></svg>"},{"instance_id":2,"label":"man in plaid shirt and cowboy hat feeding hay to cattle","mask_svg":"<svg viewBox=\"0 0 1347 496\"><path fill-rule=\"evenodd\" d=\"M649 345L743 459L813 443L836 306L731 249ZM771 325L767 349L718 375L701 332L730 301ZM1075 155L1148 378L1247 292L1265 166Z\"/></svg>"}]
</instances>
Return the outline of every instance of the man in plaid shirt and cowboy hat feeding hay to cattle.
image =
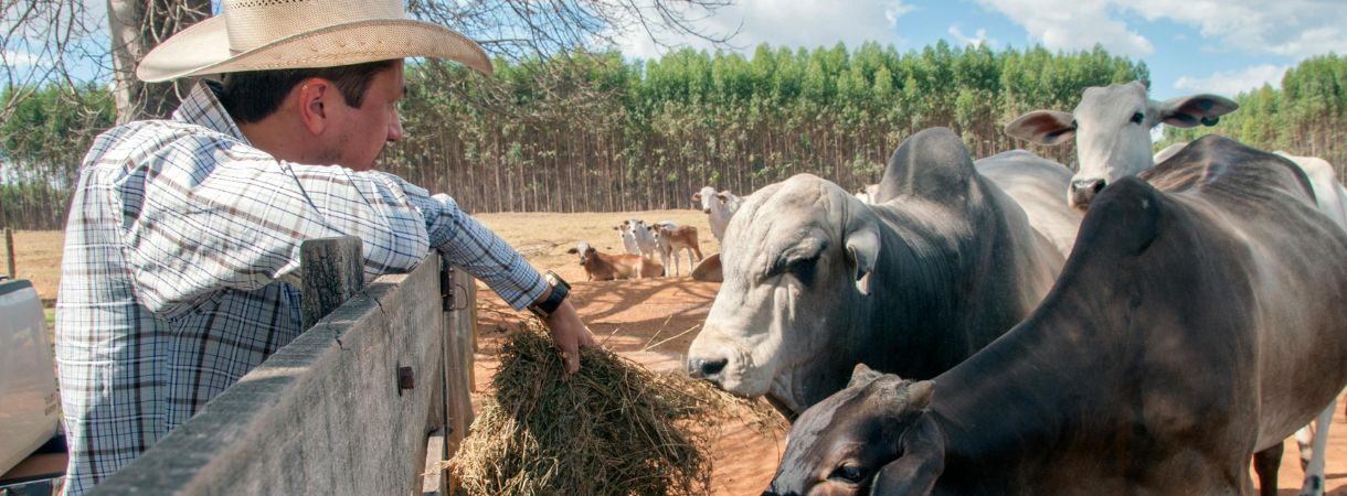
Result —
<instances>
[{"instance_id":1,"label":"man in plaid shirt and cowboy hat feeding hay to cattle","mask_svg":"<svg viewBox=\"0 0 1347 496\"><path fill-rule=\"evenodd\" d=\"M594 345L551 285L446 195L370 171L403 136L403 58L490 73L401 0L225 0L137 77L198 83L171 120L100 136L79 171L57 304L66 493L113 474L303 329L299 243L357 235L366 278L434 247L546 317L566 368Z\"/></svg>"}]
</instances>

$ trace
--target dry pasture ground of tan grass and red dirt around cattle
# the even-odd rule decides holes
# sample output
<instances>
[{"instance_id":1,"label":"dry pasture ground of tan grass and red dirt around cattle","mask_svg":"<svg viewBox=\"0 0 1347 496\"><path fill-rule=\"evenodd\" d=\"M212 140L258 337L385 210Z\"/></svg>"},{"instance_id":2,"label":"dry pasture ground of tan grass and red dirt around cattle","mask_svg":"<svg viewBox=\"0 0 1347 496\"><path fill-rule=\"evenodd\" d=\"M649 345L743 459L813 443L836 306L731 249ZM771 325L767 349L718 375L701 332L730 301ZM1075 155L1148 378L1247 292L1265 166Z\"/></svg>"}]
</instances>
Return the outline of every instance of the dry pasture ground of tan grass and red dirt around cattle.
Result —
<instances>
[{"instance_id":1,"label":"dry pasture ground of tan grass and red dirt around cattle","mask_svg":"<svg viewBox=\"0 0 1347 496\"><path fill-rule=\"evenodd\" d=\"M601 251L620 253L613 226L622 219L674 220L696 226L704 254L718 253L707 218L696 210L660 210L628 214L485 214L478 219L519 249L539 270L555 270L572 282L574 302L594 335L606 347L653 370L683 368L688 345L700 329L719 284L688 277L643 281L586 282L578 257L567 250L587 241ZM62 234L15 233L18 276L30 278L44 300L54 300L59 281ZM506 328L523 315L509 309L480 285L475 382L485 391L496 364L496 351ZM474 398L475 401L477 398ZM1327 456L1327 492L1347 495L1347 419L1342 405L1335 413ZM784 448L784 433L761 436L738 430L717 446L714 487L717 495L758 495L770 480ZM1300 488L1301 469L1294 444L1282 458L1282 495ZM1292 489L1296 488L1296 489Z\"/></svg>"}]
</instances>

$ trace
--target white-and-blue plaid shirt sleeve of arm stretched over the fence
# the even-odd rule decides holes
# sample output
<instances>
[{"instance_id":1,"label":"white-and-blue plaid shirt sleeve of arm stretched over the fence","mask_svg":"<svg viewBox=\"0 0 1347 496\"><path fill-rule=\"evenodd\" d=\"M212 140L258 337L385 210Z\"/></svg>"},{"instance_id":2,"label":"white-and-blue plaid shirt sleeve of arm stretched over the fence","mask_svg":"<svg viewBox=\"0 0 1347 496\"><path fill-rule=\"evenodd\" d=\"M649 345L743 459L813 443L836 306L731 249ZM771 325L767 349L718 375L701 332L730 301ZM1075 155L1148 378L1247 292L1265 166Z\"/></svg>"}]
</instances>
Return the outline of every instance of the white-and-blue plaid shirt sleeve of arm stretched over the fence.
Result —
<instances>
[{"instance_id":1,"label":"white-and-blue plaid shirt sleeve of arm stretched over the fence","mask_svg":"<svg viewBox=\"0 0 1347 496\"><path fill-rule=\"evenodd\" d=\"M447 196L383 172L279 161L237 141L187 136L125 169L127 258L141 301L172 315L221 288L298 282L304 239L356 235L365 278L407 272L431 246L515 308L546 284ZM143 194L139 194L143 191ZM431 235L434 233L434 235Z\"/></svg>"}]
</instances>

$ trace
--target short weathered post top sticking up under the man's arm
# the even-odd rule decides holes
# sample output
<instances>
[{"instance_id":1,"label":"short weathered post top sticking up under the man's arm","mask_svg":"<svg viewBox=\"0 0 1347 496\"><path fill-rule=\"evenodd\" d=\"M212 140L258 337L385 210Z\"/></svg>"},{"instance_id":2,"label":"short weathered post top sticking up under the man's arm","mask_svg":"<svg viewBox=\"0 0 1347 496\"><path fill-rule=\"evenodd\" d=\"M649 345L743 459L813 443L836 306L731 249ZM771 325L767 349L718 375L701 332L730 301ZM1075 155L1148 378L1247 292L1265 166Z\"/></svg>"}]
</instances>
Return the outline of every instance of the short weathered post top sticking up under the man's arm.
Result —
<instances>
[{"instance_id":1,"label":"short weathered post top sticking up under the man's arm","mask_svg":"<svg viewBox=\"0 0 1347 496\"><path fill-rule=\"evenodd\" d=\"M299 245L300 328L314 327L365 288L365 263L357 237L307 239Z\"/></svg>"}]
</instances>

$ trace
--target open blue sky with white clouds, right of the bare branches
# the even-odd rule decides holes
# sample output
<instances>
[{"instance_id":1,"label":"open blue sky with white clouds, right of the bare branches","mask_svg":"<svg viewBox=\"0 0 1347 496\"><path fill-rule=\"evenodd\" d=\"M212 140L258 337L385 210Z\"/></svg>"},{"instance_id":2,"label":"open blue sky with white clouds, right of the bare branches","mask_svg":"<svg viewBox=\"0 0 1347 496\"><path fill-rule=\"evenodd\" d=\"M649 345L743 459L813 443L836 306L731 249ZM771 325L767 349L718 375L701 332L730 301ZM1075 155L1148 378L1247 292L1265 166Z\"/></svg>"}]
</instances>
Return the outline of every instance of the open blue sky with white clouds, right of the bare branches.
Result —
<instances>
[{"instance_id":1,"label":"open blue sky with white clouds, right of the bare branches","mask_svg":"<svg viewBox=\"0 0 1347 496\"><path fill-rule=\"evenodd\" d=\"M731 43L746 55L762 42L857 47L874 40L901 51L942 39L997 50L1099 43L1145 60L1157 99L1277 86L1286 67L1308 56L1347 55L1347 0L737 0L700 26L709 32L738 27ZM638 34L620 43L632 56L660 52Z\"/></svg>"}]
</instances>

